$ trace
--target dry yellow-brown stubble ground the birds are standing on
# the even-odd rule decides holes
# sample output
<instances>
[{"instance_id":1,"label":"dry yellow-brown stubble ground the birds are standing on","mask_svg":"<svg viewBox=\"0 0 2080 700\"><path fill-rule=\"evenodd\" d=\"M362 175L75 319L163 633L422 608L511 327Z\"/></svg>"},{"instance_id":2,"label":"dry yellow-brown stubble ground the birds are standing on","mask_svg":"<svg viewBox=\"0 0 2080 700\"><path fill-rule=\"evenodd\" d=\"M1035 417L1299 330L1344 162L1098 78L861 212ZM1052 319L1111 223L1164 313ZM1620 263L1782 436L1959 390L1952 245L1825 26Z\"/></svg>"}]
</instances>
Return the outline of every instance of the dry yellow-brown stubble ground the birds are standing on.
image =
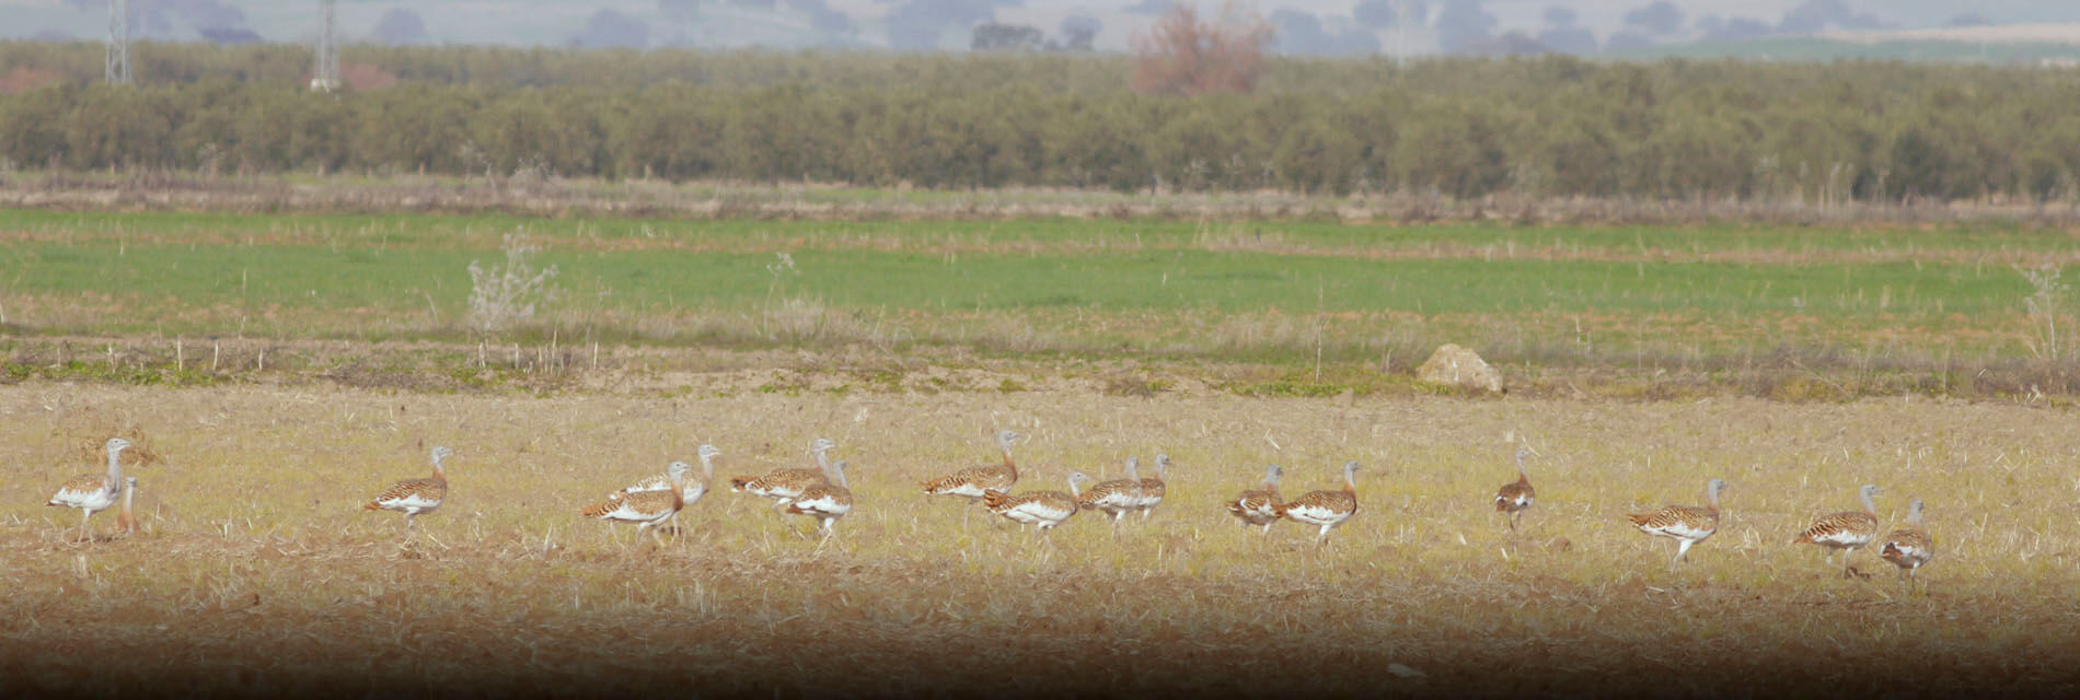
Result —
<instances>
[{"instance_id":1,"label":"dry yellow-brown stubble ground the birds are standing on","mask_svg":"<svg viewBox=\"0 0 2080 700\"><path fill-rule=\"evenodd\" d=\"M1993 403L1747 399L1242 399L1090 391L711 399L468 397L347 388L0 386L0 677L31 694L347 696L1005 690L1340 694L2072 690L2080 656L2072 415ZM1175 459L1165 505L1052 542L917 480L994 459L1023 488L1127 455ZM156 461L144 532L71 542L44 507L110 434ZM1510 538L1489 499L1535 445L1539 505ZM726 486L670 546L578 507L701 442L718 480L851 463L855 511L811 519ZM449 503L399 544L358 509L449 445ZM1362 511L1317 550L1219 503L1285 465L1285 494L1358 459ZM1668 567L1620 515L1699 503L1718 536ZM1909 592L1860 553L1841 580L1787 544L1876 482L1887 528L1928 503L1939 557ZM114 513L96 515L100 534ZM110 661L121 658L121 665ZM1017 688L1000 688L1025 679ZM408 683L408 685L395 685ZM1637 683L1637 685L1633 685ZM1654 683L1654 685L1647 685ZM1826 683L1826 685L1808 685ZM2065 685L2061 685L2065 683Z\"/></svg>"}]
</instances>

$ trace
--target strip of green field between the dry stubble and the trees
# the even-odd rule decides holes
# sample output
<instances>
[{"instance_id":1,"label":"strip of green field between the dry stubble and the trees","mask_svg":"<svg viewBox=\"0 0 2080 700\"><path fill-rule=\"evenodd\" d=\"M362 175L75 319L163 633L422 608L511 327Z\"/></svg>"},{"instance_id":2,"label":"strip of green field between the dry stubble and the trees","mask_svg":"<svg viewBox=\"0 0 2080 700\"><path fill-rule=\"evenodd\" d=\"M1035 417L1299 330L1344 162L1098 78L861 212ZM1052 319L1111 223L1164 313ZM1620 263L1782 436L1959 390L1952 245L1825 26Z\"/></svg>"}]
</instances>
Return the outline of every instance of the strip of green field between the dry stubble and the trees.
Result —
<instances>
[{"instance_id":1,"label":"strip of green field between the dry stubble and the trees","mask_svg":"<svg viewBox=\"0 0 2080 700\"><path fill-rule=\"evenodd\" d=\"M2070 233L1167 220L0 214L31 336L476 341L470 262L522 233L557 297L493 336L1302 364L1724 366L2049 355L2018 266ZM2063 299L2063 297L2057 297ZM2055 326L2053 326L2055 330ZM2057 343L2070 343L2059 336ZM1839 361L1839 359L1837 359Z\"/></svg>"}]
</instances>

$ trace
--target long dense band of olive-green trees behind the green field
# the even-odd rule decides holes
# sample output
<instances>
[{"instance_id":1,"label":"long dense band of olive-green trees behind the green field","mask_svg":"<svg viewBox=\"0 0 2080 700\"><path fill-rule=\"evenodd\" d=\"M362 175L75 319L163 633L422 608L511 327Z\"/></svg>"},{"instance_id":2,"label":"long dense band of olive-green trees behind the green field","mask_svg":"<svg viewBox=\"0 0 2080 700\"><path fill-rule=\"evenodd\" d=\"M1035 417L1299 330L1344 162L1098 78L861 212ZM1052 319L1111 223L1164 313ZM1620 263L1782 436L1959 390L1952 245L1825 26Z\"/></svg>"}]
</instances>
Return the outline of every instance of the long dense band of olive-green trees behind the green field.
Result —
<instances>
[{"instance_id":1,"label":"long dense band of olive-green trees behind the green field","mask_svg":"<svg viewBox=\"0 0 2080 700\"><path fill-rule=\"evenodd\" d=\"M293 50L166 50L223 64L141 60L137 85L112 87L77 79L83 69L67 60L27 62L25 44L0 46L0 71L67 75L0 96L0 158L248 174L1808 201L2059 199L2080 174L2080 75L2045 69L1275 58L1248 93L1159 96L1136 91L1119 56L630 52L634 75L591 79L616 66L614 52L395 48L376 56L395 85L310 93L306 75L275 69ZM283 56L252 73L229 66L270 52ZM535 79L512 79L526 73L520 58Z\"/></svg>"}]
</instances>

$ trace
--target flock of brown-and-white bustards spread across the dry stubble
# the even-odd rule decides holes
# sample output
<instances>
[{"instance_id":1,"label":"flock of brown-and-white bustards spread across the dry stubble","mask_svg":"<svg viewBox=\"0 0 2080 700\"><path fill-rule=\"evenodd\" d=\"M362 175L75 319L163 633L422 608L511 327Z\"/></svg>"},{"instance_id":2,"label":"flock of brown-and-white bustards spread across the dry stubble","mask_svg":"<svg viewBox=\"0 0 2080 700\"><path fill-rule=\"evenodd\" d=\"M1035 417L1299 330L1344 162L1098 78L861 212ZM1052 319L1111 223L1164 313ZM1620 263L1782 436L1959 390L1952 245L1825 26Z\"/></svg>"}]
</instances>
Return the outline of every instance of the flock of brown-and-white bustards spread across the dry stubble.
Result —
<instances>
[{"instance_id":1,"label":"flock of brown-and-white bustards spread across the dry stubble","mask_svg":"<svg viewBox=\"0 0 2080 700\"><path fill-rule=\"evenodd\" d=\"M917 486L921 486L928 496L959 496L969 503L980 503L982 509L1015 521L1019 528L1034 526L1036 536L1052 532L1080 511L1109 515L1113 532L1117 534L1123 517L1140 513L1140 517L1146 519L1163 503L1165 480L1169 478L1171 467L1169 455L1156 455L1154 476L1150 478L1140 476L1140 457L1127 457L1125 478L1119 480L1092 484L1088 474L1071 472L1067 492L1013 492L1011 488L1019 482L1019 467L1011 457L1011 447L1017 440L1017 432L1003 430L996 434L996 447L1003 453L1000 463L961 469L948 476L924 480ZM129 534L137 530L137 519L131 513L137 478L123 476L121 459L123 451L129 447L131 442L125 438L110 438L106 442L108 469L104 474L75 476L64 484L58 484L58 490L50 496L48 505L52 507L79 509L81 540L94 540L89 517L98 511L114 507L116 503L121 503L121 515L116 517L119 532ZM828 438L817 438L809 447L809 453L817 463L815 469L782 467L761 476L736 476L730 478L730 490L774 499L774 509L788 515L813 517L822 538L828 542L836 532L834 528L838 519L853 511L853 490L847 480L847 463L842 459L830 459L830 451L836 447L838 445ZM362 509L404 513L404 530L406 536L410 536L418 515L433 513L447 501L447 472L443 461L453 455L456 451L447 447L435 447L431 451L431 476L395 482L362 505ZM1516 480L1502 484L1502 488L1496 490L1496 511L1506 517L1510 532L1516 532L1518 519L1537 503L1537 488L1531 486L1531 476L1525 472L1525 457L1533 455L1537 455L1537 451L1520 447L1516 451ZM693 467L688 463L674 461L664 474L645 476L630 486L607 494L605 501L578 509L578 515L614 523L634 523L636 538L647 532L653 542L664 546L664 538L657 530L676 523L682 509L699 503L701 496L707 494L709 484L716 480L716 457L722 457L722 449L701 445L697 457L701 461L699 480L693 478ZM1329 532L1358 515L1356 461L1344 463L1342 488L1310 490L1292 501L1279 496L1279 480L1283 474L1285 472L1279 465L1265 467L1265 478L1254 488L1242 490L1233 499L1225 501L1223 507L1229 515L1242 521L1244 530L1263 528L1263 532L1269 534L1271 526L1279 519L1321 528L1315 534L1317 546L1329 540ZM1728 484L1724 480L1708 480L1704 507L1664 505L1645 513L1627 513L1624 519L1639 528L1639 532L1676 540L1676 553L1670 559L1670 567L1676 567L1687 559L1691 546L1701 544L1718 532L1720 494L1726 486ZM1832 559L1841 555L1843 575L1853 575L1849 557L1855 555L1855 550L1876 544L1878 557L1895 565L1901 580L1912 582L1920 567L1934 559L1934 540L1922 523L1922 501L1914 499L1907 505L1905 523L1880 538L1880 521L1874 499L1882 492L1884 490L1876 484L1864 484L1857 488L1857 505L1862 509L1824 515L1799 532L1791 544L1820 546L1826 555L1828 567L1832 567Z\"/></svg>"}]
</instances>

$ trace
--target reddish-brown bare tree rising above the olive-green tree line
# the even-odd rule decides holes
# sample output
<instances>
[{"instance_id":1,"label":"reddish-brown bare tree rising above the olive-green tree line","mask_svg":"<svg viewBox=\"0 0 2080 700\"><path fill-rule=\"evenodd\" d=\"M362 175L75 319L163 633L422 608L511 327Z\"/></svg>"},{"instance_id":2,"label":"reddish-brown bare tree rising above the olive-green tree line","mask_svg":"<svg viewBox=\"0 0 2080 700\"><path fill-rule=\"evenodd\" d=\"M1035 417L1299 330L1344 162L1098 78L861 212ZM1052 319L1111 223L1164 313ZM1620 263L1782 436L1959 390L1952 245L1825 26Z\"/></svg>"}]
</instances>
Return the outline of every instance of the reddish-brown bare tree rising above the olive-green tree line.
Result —
<instances>
[{"instance_id":1,"label":"reddish-brown bare tree rising above the olive-green tree line","mask_svg":"<svg viewBox=\"0 0 2080 700\"><path fill-rule=\"evenodd\" d=\"M1190 2L1171 4L1148 33L1134 37L1134 89L1165 96L1250 91L1265 73L1271 23L1227 2L1219 23L1200 21Z\"/></svg>"}]
</instances>

